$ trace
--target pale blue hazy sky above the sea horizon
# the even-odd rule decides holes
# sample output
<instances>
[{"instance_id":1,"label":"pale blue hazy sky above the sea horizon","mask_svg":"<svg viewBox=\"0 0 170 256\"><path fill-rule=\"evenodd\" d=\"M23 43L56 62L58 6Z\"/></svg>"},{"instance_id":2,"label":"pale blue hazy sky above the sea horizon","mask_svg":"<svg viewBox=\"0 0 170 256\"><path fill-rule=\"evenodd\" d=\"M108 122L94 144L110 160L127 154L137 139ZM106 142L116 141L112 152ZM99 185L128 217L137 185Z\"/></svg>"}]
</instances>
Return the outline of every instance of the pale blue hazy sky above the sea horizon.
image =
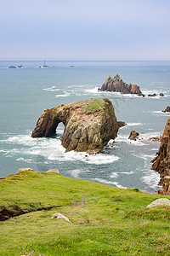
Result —
<instances>
[{"instance_id":1,"label":"pale blue hazy sky above the sea horizon","mask_svg":"<svg viewBox=\"0 0 170 256\"><path fill-rule=\"evenodd\" d=\"M170 0L0 0L0 60L169 61Z\"/></svg>"}]
</instances>

